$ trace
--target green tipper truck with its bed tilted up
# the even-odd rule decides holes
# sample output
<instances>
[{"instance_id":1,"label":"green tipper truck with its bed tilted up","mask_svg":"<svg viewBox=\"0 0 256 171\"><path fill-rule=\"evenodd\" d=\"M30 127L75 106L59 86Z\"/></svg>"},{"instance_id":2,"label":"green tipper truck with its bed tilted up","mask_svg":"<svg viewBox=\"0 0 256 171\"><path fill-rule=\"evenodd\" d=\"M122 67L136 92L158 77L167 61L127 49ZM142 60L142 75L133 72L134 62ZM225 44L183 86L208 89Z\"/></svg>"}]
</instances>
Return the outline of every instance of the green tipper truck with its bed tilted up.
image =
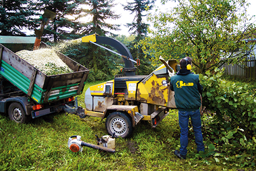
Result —
<instances>
[{"instance_id":1,"label":"green tipper truck with its bed tilted up","mask_svg":"<svg viewBox=\"0 0 256 171\"><path fill-rule=\"evenodd\" d=\"M0 36L0 112L18 123L60 111L83 117L74 96L82 93L89 70L56 51L73 72L45 75L15 54L32 50L34 42L35 37ZM47 46L41 42L40 47Z\"/></svg>"}]
</instances>

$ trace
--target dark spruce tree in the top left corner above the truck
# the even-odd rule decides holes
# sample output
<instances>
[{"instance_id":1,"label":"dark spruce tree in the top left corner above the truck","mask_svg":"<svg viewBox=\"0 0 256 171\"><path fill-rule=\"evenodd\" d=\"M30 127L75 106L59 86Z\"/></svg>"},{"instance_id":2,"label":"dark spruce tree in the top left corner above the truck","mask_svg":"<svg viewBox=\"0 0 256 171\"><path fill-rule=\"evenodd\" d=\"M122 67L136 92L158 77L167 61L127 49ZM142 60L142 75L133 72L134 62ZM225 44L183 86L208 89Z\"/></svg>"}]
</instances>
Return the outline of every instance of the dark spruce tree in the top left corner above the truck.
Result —
<instances>
[{"instance_id":1,"label":"dark spruce tree in the top left corner above the truck","mask_svg":"<svg viewBox=\"0 0 256 171\"><path fill-rule=\"evenodd\" d=\"M0 1L0 35L26 35L26 30L34 30L33 12L27 7L30 1Z\"/></svg>"}]
</instances>

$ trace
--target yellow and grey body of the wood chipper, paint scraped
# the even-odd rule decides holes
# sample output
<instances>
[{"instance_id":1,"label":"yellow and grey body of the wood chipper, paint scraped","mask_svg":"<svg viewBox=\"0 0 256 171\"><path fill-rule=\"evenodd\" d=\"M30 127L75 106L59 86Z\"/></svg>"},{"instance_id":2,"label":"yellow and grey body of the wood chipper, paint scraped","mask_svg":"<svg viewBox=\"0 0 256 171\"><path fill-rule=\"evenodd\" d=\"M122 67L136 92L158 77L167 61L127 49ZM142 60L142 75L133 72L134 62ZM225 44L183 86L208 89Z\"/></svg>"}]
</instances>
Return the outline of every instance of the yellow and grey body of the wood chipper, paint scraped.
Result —
<instances>
[{"instance_id":1,"label":"yellow and grey body of the wood chipper, paint scraped","mask_svg":"<svg viewBox=\"0 0 256 171\"><path fill-rule=\"evenodd\" d=\"M168 63L176 68L175 60ZM159 107L176 108L174 92L170 90L169 72L164 65L150 75L120 77L90 86L86 91L85 103L87 115L102 119L108 117L112 105L115 105L115 110L111 111L123 111L125 105L137 105L138 108L133 109L133 116L139 112L144 115L142 120L149 121L149 116Z\"/></svg>"}]
</instances>

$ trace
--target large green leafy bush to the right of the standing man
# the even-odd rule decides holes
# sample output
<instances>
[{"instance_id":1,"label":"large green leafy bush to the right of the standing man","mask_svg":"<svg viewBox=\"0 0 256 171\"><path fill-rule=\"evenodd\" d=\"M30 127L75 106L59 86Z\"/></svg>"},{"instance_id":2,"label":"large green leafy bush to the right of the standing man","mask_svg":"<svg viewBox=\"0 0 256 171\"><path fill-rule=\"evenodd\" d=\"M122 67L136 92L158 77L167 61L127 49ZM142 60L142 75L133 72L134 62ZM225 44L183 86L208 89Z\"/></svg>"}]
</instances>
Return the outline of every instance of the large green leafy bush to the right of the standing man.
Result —
<instances>
[{"instance_id":1,"label":"large green leafy bush to the right of the standing man","mask_svg":"<svg viewBox=\"0 0 256 171\"><path fill-rule=\"evenodd\" d=\"M246 83L236 84L222 79L222 72L215 69L200 75L204 87L202 105L211 114L207 136L215 145L214 157L225 157L226 161L241 166L255 165L256 153L256 98ZM209 117L209 116L208 116ZM205 155L205 154L204 154ZM203 155L201 155L203 157ZM219 159L216 158L216 162Z\"/></svg>"}]
</instances>

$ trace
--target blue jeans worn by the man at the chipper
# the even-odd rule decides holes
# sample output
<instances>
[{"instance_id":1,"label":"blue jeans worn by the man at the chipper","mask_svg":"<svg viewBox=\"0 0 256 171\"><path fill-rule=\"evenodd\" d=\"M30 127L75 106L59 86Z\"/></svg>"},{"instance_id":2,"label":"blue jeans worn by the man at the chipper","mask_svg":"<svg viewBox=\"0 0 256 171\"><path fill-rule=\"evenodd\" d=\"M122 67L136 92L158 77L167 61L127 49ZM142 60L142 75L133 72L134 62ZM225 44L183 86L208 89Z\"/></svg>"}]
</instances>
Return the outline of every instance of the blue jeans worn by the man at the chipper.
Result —
<instances>
[{"instance_id":1,"label":"blue jeans worn by the man at the chipper","mask_svg":"<svg viewBox=\"0 0 256 171\"><path fill-rule=\"evenodd\" d=\"M189 138L189 118L193 125L195 134L195 144L197 144L197 151L204 151L204 143L202 142L202 131L201 131L201 116L200 110L196 111L179 111L179 125L180 125L180 154L187 154L187 144Z\"/></svg>"}]
</instances>

